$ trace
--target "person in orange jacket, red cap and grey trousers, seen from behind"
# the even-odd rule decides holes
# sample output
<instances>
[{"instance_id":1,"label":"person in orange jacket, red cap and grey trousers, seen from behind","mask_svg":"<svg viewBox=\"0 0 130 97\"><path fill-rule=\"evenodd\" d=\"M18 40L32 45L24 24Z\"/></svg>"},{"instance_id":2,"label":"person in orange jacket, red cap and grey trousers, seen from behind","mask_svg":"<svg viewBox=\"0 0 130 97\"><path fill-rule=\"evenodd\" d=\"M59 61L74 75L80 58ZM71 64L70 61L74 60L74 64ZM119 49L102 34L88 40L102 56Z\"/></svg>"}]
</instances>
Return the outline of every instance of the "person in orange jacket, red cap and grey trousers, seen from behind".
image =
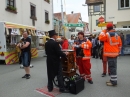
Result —
<instances>
[{"instance_id":1,"label":"person in orange jacket, red cap and grey trousers, seen from behind","mask_svg":"<svg viewBox=\"0 0 130 97\"><path fill-rule=\"evenodd\" d=\"M108 86L117 85L117 57L121 50L120 36L113 30L113 24L108 23L107 29L103 30L99 35L99 40L104 42L104 53L107 57L108 66L110 69L110 81L106 82Z\"/></svg>"}]
</instances>

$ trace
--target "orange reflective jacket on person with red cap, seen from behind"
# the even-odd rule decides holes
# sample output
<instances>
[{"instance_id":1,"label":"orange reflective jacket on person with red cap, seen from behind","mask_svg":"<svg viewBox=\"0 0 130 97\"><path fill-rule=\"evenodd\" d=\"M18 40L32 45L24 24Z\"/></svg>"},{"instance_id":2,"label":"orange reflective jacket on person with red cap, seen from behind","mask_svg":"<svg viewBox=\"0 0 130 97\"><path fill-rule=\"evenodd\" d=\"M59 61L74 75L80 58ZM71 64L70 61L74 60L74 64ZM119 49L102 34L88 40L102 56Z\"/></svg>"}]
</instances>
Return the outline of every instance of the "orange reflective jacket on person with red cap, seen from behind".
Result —
<instances>
[{"instance_id":1,"label":"orange reflective jacket on person with red cap, seen from behind","mask_svg":"<svg viewBox=\"0 0 130 97\"><path fill-rule=\"evenodd\" d=\"M120 36L114 31L103 30L99 40L104 42L104 56L117 57L120 53L122 42Z\"/></svg>"}]
</instances>

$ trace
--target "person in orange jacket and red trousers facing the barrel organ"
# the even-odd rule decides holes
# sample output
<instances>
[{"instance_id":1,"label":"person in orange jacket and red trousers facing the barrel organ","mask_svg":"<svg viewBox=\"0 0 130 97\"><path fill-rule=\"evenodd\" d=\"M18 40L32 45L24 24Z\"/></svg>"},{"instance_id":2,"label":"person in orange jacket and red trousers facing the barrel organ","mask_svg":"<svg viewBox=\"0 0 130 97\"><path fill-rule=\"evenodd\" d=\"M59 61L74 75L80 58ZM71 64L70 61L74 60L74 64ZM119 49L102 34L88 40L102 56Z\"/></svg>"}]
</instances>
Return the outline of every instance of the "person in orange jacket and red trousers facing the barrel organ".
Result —
<instances>
[{"instance_id":1,"label":"person in orange jacket and red trousers facing the barrel organ","mask_svg":"<svg viewBox=\"0 0 130 97\"><path fill-rule=\"evenodd\" d=\"M78 40L75 43L76 64L79 67L80 75L93 84L90 63L92 43L84 38L83 32L78 33Z\"/></svg>"}]
</instances>

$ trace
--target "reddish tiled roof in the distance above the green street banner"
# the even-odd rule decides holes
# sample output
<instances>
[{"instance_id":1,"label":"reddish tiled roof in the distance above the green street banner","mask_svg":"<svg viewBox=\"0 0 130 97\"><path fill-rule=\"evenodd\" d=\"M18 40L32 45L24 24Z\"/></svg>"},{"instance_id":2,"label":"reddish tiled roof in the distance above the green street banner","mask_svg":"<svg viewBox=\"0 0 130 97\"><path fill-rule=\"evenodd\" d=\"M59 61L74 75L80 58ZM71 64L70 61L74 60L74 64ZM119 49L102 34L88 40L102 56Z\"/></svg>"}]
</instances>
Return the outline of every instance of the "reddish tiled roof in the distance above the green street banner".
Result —
<instances>
[{"instance_id":1,"label":"reddish tiled roof in the distance above the green street banner","mask_svg":"<svg viewBox=\"0 0 130 97\"><path fill-rule=\"evenodd\" d=\"M81 13L68 14L67 21L68 23L78 23L80 17L81 17Z\"/></svg>"}]
</instances>

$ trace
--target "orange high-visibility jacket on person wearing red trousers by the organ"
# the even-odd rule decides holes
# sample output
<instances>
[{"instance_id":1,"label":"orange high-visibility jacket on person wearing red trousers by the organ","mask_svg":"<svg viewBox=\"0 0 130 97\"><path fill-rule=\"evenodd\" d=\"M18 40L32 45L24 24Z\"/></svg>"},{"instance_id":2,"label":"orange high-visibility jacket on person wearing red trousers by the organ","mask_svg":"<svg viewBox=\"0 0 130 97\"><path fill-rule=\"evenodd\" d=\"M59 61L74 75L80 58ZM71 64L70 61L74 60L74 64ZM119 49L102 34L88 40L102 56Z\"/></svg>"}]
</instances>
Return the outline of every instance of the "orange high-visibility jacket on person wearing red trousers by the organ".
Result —
<instances>
[{"instance_id":1,"label":"orange high-visibility jacket on person wearing red trousers by the organ","mask_svg":"<svg viewBox=\"0 0 130 97\"><path fill-rule=\"evenodd\" d=\"M83 48L83 53L84 53L84 57L82 59L83 60L90 59L91 58L92 43L87 39L86 42L83 42L81 44L81 48Z\"/></svg>"}]
</instances>

